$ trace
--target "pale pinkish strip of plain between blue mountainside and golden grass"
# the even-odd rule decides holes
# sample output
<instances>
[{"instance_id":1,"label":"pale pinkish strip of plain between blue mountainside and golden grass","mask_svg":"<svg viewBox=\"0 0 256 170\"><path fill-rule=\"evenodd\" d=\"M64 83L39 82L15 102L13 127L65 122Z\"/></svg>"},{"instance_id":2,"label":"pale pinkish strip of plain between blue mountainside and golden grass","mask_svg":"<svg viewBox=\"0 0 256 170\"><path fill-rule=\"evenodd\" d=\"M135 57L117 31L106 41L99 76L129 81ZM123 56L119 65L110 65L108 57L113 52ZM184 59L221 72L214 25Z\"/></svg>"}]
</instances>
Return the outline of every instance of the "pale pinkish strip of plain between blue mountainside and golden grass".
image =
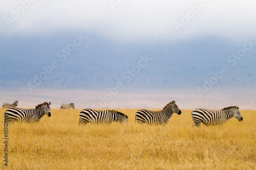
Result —
<instances>
[{"instance_id":1,"label":"pale pinkish strip of plain between blue mountainside and golden grass","mask_svg":"<svg viewBox=\"0 0 256 170\"><path fill-rule=\"evenodd\" d=\"M18 100L20 108L34 108L43 102L52 102L51 108L59 109L61 104L74 103L76 109L159 109L167 103L176 101L181 110L207 108L223 109L229 106L239 106L241 110L256 110L256 101L253 100L256 91L247 91L243 96L232 90L219 89L219 93L209 91L200 98L195 91L168 90L151 91L147 93L123 92L122 90L87 91L82 89L36 89L30 93L27 89L8 89L0 91L0 103L13 103Z\"/></svg>"}]
</instances>

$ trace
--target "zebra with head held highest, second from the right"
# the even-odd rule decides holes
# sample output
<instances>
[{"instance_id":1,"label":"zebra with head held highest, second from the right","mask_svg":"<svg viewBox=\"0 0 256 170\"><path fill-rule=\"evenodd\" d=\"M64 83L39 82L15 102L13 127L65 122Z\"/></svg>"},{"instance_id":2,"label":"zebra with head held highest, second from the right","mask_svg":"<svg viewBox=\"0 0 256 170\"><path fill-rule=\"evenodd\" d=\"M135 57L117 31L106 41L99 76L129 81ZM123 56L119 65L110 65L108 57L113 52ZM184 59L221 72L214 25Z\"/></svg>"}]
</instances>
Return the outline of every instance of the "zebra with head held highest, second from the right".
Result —
<instances>
[{"instance_id":1,"label":"zebra with head held highest, second from the right","mask_svg":"<svg viewBox=\"0 0 256 170\"><path fill-rule=\"evenodd\" d=\"M174 112L178 113L178 115L181 114L181 110L175 104L175 101L172 101L160 111L138 110L135 114L135 121L149 125L165 125L169 122L169 118Z\"/></svg>"}]
</instances>

